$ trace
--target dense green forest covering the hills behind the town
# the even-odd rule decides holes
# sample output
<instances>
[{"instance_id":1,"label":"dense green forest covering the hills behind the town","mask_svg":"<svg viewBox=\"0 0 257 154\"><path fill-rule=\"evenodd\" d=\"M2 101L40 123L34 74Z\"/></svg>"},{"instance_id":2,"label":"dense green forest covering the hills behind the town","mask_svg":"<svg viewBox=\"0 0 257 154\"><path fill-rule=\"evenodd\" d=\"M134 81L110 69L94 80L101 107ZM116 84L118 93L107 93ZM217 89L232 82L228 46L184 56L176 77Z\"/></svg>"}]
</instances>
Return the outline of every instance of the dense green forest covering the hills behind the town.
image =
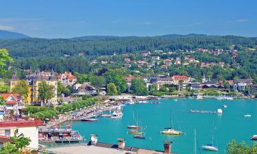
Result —
<instances>
[{"instance_id":1,"label":"dense green forest covering the hills behind the town","mask_svg":"<svg viewBox=\"0 0 257 154\"><path fill-rule=\"evenodd\" d=\"M159 55L163 60L169 57L183 57L186 50L204 49L230 49L234 44L234 49L238 52L236 58L231 57L231 53L222 53L213 56L209 53L193 53L200 62L225 62L225 67L215 66L201 69L199 64L189 66L170 66L166 72L170 75L180 74L201 79L203 73L210 75L212 79L233 79L234 77L248 78L257 76L257 38L245 38L241 36L206 36L198 34L166 35L154 37L118 37L118 36L85 36L71 39L42 39L42 38L22 38L22 39L0 39L0 49L8 49L14 58L16 68L35 70L38 66L40 70L51 70L63 73L91 73L97 74L98 70L108 68L110 70L123 66L123 53L128 53L131 60L142 60L142 55L138 54L145 50L175 51L174 54ZM182 50L182 51L180 51ZM78 53L84 52L84 56ZM110 56L113 53L115 56ZM130 54L132 53L132 54ZM65 56L66 55L66 56ZM97 64L90 64L92 60L97 60ZM114 62L114 64L101 65L101 60ZM147 62L151 63L151 57L147 57ZM237 65L240 68L237 68ZM228 67L227 65L230 65ZM154 75L162 73L160 66L156 66L154 71L148 71L147 66L138 68L132 64L126 68L126 75L136 75L135 70L142 75ZM9 75L10 76L10 75Z\"/></svg>"}]
</instances>

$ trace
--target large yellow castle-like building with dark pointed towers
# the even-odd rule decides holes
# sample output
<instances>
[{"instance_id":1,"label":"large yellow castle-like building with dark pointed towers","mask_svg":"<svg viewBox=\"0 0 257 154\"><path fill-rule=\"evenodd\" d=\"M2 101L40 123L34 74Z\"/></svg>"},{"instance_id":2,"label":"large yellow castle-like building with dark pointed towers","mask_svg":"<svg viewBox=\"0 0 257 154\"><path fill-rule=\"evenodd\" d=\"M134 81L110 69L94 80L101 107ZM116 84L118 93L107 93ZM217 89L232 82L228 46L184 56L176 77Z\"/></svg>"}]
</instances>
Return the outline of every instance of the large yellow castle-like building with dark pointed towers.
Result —
<instances>
[{"instance_id":1,"label":"large yellow castle-like building with dark pointed towers","mask_svg":"<svg viewBox=\"0 0 257 154\"><path fill-rule=\"evenodd\" d=\"M27 94L27 98L24 99L23 103L27 104L40 104L41 99L38 96L38 89L40 88L40 83L42 81L46 81L49 86L53 86L53 98L51 98L49 103L56 104L57 103L57 88L58 88L58 80L56 79L55 72L51 70L51 73L40 72L40 70L36 70L35 73L29 71L29 75L26 77L26 81L28 84L29 92ZM18 84L20 80L17 77L17 72L14 70L12 73L12 79L10 80L10 90L12 91L14 86Z\"/></svg>"}]
</instances>

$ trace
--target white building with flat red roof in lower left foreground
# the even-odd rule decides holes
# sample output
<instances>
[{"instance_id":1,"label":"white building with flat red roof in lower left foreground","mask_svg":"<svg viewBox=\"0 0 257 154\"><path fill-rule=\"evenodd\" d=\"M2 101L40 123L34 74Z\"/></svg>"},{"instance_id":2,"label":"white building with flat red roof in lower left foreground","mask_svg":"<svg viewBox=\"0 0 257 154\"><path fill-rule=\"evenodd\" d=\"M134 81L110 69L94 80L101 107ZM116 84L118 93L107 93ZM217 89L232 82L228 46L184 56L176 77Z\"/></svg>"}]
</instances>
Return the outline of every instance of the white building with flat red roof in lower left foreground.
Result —
<instances>
[{"instance_id":1,"label":"white building with flat red roof in lower left foreground","mask_svg":"<svg viewBox=\"0 0 257 154\"><path fill-rule=\"evenodd\" d=\"M3 121L0 122L0 136L14 137L23 135L32 140L27 148L38 149L38 126L42 125L40 120L19 120L19 121Z\"/></svg>"}]
</instances>

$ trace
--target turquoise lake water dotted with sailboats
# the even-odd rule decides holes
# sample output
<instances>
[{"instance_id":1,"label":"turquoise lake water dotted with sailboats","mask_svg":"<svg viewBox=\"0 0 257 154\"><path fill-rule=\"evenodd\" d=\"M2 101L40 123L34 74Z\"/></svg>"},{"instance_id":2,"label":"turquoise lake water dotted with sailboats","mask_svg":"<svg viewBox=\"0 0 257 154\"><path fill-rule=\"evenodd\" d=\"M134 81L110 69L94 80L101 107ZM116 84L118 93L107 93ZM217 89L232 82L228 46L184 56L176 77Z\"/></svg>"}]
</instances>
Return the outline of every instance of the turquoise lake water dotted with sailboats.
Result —
<instances>
[{"instance_id":1,"label":"turquoise lake water dotted with sailboats","mask_svg":"<svg viewBox=\"0 0 257 154\"><path fill-rule=\"evenodd\" d=\"M87 123L73 121L72 129L79 131L87 140L90 134L99 136L99 142L117 144L117 138L125 138L127 146L142 147L163 151L163 140L173 141L172 152L190 154L194 149L194 129L197 131L197 140L201 153L225 153L226 144L233 138L237 141L245 140L247 144L252 144L250 138L257 134L257 101L234 99L217 100L204 99L160 99L160 104L135 104L123 107L123 117L99 118L98 122ZM223 108L222 105L228 105ZM191 114L189 110L217 110L222 108L223 114ZM176 129L184 132L181 136L162 135L160 130L170 125L171 109L173 113L173 124ZM146 140L133 138L128 134L127 125L133 125L132 114L142 121L145 127ZM246 118L244 114L252 114ZM216 129L215 129L216 128ZM212 131L215 133L214 143L219 151L204 151L202 144L210 143ZM198 151L199 153L199 151Z\"/></svg>"}]
</instances>

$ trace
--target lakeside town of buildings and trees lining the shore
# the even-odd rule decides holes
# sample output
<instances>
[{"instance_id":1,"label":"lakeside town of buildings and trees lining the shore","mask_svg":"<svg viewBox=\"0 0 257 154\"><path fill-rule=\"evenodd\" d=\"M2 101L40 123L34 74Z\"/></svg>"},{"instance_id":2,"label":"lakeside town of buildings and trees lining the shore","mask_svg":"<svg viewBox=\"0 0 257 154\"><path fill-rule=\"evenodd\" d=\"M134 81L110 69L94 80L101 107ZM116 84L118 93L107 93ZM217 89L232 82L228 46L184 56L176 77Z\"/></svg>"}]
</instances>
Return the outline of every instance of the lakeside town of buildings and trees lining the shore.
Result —
<instances>
[{"instance_id":1,"label":"lakeside town of buildings and trees lining the shore","mask_svg":"<svg viewBox=\"0 0 257 154\"><path fill-rule=\"evenodd\" d=\"M122 116L122 105L149 103L147 100L158 100L160 97L195 97L196 99L255 99L256 97L257 84L255 79L215 81L205 72L201 81L186 75L170 76L169 73L165 72L168 66L180 66L186 63L195 64L199 63L199 60L195 60L190 55L184 56L182 58L183 62L180 62L180 58L175 60L172 58L162 59L160 56L151 55L151 53L155 52L163 53L163 51L143 51L141 53L143 55L142 60L133 61L127 55L123 59L123 66L138 64L140 68L142 67L140 66L141 63L146 63L146 56L151 60L151 63L162 64L160 74L143 77L138 74L134 75L134 73L126 76L116 74L115 76L113 70L105 68L100 70L103 71L103 76L95 76L93 79L89 79L90 82L87 79L89 77L86 75L77 73L76 76L68 71L58 74L54 71L54 68L51 71L40 71L37 68L34 71L32 69L23 70L25 77L20 79L21 73L18 75L16 68L10 67L12 77L9 79L8 84L3 84L4 87L2 89L5 88L6 92L1 92L1 145L5 142L12 142L13 136L22 133L25 138L29 138L30 142L26 147L31 151L47 152L46 146L42 144L50 142L69 142L70 144L81 142L82 144L78 145L79 149L84 149L84 136L81 136L78 131L72 130L71 124L66 125L64 128L58 125L70 120L96 121L97 118L94 118L96 116L119 118ZM228 52L232 53L232 51ZM232 53L232 56L234 55L235 53ZM101 64L103 64L103 61L101 61ZM106 64L108 62L104 62L103 65ZM204 64L201 62L201 68L212 67L204 66ZM109 76L108 72L110 72ZM104 73L106 73L106 76ZM108 81L109 84L106 83L108 77L113 83L111 81ZM120 87L119 84L121 84ZM122 87L123 91L121 93ZM158 101L150 103L158 103ZM99 111L114 112L112 114L103 114L99 113ZM218 112L189 112L222 114L222 110L218 110ZM8 138L8 136L12 138ZM106 147L113 149L111 145L106 143L97 144L97 135L92 135L90 138L90 142L95 142L93 145L99 146L99 151L101 151L101 148L104 149ZM164 151L171 151L171 142L164 142L165 144L168 146L164 146ZM57 148L57 151L60 150L64 153L64 151L69 151L69 148L72 149L72 147ZM141 153L146 153L145 151L151 153L151 150L133 149L125 146L123 138L118 140L114 151L115 149L125 149L124 151L130 151L130 153L140 153L139 151L143 151ZM86 146L87 150L95 151L95 148ZM51 149L48 152L56 153ZM152 153L157 152L154 151Z\"/></svg>"}]
</instances>

